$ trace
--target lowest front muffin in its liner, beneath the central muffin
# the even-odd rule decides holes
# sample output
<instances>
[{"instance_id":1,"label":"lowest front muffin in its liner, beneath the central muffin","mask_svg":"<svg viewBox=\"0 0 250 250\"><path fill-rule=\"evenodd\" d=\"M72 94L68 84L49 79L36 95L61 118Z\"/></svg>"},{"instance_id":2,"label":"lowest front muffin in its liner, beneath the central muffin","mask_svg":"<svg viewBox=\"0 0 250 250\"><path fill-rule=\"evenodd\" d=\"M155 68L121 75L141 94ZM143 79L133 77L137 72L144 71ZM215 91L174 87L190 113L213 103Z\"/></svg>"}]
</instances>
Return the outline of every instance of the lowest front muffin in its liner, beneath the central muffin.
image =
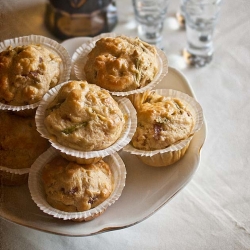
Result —
<instances>
[{"instance_id":1,"label":"lowest front muffin in its liner, beneath the central muffin","mask_svg":"<svg viewBox=\"0 0 250 250\"><path fill-rule=\"evenodd\" d=\"M80 222L100 216L114 204L125 180L125 164L117 153L94 164L77 164L50 147L31 166L28 187L41 211Z\"/></svg>"}]
</instances>

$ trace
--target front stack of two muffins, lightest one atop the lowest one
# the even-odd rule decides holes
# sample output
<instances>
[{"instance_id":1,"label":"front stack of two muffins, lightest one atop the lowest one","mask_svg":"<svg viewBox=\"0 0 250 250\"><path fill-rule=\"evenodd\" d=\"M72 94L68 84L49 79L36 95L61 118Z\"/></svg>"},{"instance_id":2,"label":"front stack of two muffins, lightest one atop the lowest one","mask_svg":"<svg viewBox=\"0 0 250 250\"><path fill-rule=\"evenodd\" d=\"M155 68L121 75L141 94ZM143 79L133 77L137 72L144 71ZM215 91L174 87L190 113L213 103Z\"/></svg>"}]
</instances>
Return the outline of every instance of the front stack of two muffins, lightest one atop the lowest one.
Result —
<instances>
[{"instance_id":1,"label":"front stack of two muffins, lightest one atop the lowest one","mask_svg":"<svg viewBox=\"0 0 250 250\"><path fill-rule=\"evenodd\" d=\"M131 102L116 101L107 90L87 81L70 80L44 96L36 124L55 151L42 156L43 171L40 159L34 164L38 172L32 169L29 178L33 200L43 211L49 209L65 220L88 221L102 214L125 185L125 165L116 152L136 129Z\"/></svg>"}]
</instances>

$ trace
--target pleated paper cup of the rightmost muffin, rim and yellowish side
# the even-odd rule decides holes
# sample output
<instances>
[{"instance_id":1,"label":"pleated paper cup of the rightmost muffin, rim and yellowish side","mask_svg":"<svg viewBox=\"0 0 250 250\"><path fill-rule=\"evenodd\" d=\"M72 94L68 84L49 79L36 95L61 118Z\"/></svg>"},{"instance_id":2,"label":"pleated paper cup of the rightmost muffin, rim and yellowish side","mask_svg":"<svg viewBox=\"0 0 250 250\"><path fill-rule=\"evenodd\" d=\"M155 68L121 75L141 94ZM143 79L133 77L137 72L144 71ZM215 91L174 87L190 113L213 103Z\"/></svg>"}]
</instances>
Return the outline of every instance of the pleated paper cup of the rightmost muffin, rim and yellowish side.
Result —
<instances>
[{"instance_id":1,"label":"pleated paper cup of the rightmost muffin, rim and yellowish side","mask_svg":"<svg viewBox=\"0 0 250 250\"><path fill-rule=\"evenodd\" d=\"M203 111L200 104L193 97L183 92L173 89L157 89L153 91L161 96L175 97L180 99L194 117L194 127L187 138L180 140L164 149L152 151L140 150L134 148L132 143L129 143L123 148L123 151L136 155L146 165L152 167L164 167L177 162L185 155L194 134L197 133L202 127L204 119Z\"/></svg>"}]
</instances>

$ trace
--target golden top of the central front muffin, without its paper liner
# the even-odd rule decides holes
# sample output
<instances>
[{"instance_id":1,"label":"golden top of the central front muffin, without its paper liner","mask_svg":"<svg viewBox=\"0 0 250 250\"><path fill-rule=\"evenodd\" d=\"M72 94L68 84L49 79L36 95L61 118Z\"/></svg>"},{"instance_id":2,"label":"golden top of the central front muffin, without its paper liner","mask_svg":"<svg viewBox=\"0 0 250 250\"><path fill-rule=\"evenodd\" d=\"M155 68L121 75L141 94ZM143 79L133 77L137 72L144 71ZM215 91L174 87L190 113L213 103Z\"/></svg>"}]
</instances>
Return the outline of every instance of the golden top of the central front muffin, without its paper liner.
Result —
<instances>
[{"instance_id":1,"label":"golden top of the central front muffin, without its paper liner","mask_svg":"<svg viewBox=\"0 0 250 250\"><path fill-rule=\"evenodd\" d=\"M124 124L124 115L109 92L86 81L64 84L44 118L52 140L80 151L109 147L120 137Z\"/></svg>"}]
</instances>

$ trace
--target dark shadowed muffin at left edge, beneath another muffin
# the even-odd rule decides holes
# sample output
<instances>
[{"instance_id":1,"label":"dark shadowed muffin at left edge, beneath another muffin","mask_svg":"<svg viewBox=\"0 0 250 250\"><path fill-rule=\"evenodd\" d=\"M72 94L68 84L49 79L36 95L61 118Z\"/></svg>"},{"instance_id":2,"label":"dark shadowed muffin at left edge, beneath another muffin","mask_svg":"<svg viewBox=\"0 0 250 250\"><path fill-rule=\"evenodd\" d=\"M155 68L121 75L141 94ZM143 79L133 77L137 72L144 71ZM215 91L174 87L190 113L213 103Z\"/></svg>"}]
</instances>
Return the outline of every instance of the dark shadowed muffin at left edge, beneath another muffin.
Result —
<instances>
[{"instance_id":1,"label":"dark shadowed muffin at left edge, beneath another muffin","mask_svg":"<svg viewBox=\"0 0 250 250\"><path fill-rule=\"evenodd\" d=\"M49 142L37 132L34 117L21 117L11 111L0 111L0 131L1 182L14 185L19 184L19 178L27 181L25 175Z\"/></svg>"}]
</instances>

